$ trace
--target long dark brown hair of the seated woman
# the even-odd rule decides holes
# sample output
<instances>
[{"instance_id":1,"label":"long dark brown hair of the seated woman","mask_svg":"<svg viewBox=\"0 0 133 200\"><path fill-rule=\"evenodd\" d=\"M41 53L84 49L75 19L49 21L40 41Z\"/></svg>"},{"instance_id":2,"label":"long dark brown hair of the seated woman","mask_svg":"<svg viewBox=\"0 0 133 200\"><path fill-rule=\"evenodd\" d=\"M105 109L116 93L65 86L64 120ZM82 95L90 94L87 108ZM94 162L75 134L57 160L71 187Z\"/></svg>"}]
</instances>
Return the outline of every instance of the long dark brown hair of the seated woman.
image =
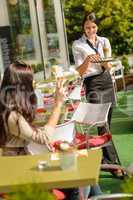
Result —
<instances>
[{"instance_id":1,"label":"long dark brown hair of the seated woman","mask_svg":"<svg viewBox=\"0 0 133 200\"><path fill-rule=\"evenodd\" d=\"M16 61L5 69L0 89L0 144L6 141L4 123L11 111L17 111L31 122L35 117L36 95L31 66ZM3 120L5 115L6 121Z\"/></svg>"}]
</instances>

